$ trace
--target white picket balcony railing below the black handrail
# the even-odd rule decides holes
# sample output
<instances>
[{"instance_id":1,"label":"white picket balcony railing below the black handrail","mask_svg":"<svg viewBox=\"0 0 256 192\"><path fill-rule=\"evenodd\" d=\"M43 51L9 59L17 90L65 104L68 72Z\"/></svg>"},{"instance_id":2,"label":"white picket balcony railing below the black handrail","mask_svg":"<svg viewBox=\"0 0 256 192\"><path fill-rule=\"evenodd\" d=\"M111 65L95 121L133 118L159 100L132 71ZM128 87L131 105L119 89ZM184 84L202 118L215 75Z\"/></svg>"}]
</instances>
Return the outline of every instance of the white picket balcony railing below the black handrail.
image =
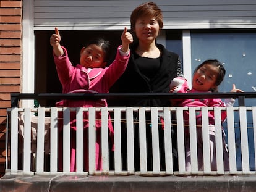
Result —
<instances>
[{"instance_id":1,"label":"white picket balcony railing below the black handrail","mask_svg":"<svg viewBox=\"0 0 256 192\"><path fill-rule=\"evenodd\" d=\"M109 108L34 108L7 109L7 159L6 173L8 174L108 174L108 175L223 175L223 174L255 174L256 154L256 107L189 107L191 172L185 169L184 152L184 122L183 111L186 107L109 107ZM216 156L217 170L211 171L210 152L204 148L204 171L197 167L197 141L195 127L195 112L202 111L203 129L207 127L208 110L215 112ZM63 170L58 170L58 112L63 112ZM70 111L76 111L76 172L70 172ZM83 111L89 112L89 167L83 169ZM95 112L101 111L101 151L102 170L95 170ZM221 135L221 111L227 112L224 125L228 139L229 171L224 171L223 148ZM108 113L111 113L114 127L114 155L109 156ZM148 122L147 113L151 114ZM35 116L36 114L36 116ZM139 114L139 119L134 114ZM162 125L159 115L164 119L164 166L161 165L159 147L159 129ZM239 117L235 122L234 117ZM125 119L123 119L125 117ZM175 117L175 118L174 118ZM138 121L137 121L138 120ZM147 128L150 123L152 146L152 170L148 170L147 161ZM126 124L126 145L123 145L122 131ZM140 169L135 169L134 125L139 127ZM177 128L177 169L174 166L172 144L172 128ZM237 139L238 138L238 139ZM241 142L241 143L240 143ZM209 143L208 132L203 131L203 143ZM124 146L127 155L124 156ZM239 149L241 146L241 149ZM135 146L137 147L137 146ZM20 149L22 148L22 149ZM126 162L126 168L124 168ZM111 168L111 164L113 167ZM20 168L21 167L21 168ZM164 168L163 168L164 167Z\"/></svg>"}]
</instances>

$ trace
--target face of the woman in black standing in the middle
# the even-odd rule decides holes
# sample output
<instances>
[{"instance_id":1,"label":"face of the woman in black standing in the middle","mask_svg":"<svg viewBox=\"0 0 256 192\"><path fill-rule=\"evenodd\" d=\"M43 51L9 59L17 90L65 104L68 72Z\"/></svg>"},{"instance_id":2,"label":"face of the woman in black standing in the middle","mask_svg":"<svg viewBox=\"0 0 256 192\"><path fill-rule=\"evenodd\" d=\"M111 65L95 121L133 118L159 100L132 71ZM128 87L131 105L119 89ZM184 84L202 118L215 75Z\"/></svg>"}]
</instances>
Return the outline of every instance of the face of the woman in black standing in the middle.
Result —
<instances>
[{"instance_id":1,"label":"face of the woman in black standing in the middle","mask_svg":"<svg viewBox=\"0 0 256 192\"><path fill-rule=\"evenodd\" d=\"M155 18L139 17L134 32L140 41L155 40L160 32L159 23Z\"/></svg>"}]
</instances>

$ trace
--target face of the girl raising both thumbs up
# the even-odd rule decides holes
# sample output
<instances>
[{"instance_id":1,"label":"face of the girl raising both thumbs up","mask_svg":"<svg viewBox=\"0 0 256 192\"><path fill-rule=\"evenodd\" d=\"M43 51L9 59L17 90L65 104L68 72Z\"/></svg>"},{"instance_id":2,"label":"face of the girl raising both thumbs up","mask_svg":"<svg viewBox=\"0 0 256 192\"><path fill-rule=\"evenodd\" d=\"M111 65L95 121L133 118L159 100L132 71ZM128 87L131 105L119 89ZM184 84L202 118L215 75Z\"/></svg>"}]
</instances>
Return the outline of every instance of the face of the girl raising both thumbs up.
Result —
<instances>
[{"instance_id":1,"label":"face of the girl raising both thumbs up","mask_svg":"<svg viewBox=\"0 0 256 192\"><path fill-rule=\"evenodd\" d=\"M87 48L83 47L80 52L80 65L85 68L105 67L105 53L100 46L90 44Z\"/></svg>"}]
</instances>

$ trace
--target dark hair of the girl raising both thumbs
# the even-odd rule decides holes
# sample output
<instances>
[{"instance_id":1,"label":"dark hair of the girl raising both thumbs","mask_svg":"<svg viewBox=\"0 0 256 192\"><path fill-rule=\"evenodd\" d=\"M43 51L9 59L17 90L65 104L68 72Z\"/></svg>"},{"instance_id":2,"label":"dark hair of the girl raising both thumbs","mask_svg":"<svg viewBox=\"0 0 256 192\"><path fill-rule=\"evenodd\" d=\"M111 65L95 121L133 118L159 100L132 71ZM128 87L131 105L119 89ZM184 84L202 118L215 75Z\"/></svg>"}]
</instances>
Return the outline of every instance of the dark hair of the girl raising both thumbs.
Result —
<instances>
[{"instance_id":1,"label":"dark hair of the girl raising both thumbs","mask_svg":"<svg viewBox=\"0 0 256 192\"><path fill-rule=\"evenodd\" d=\"M103 38L95 38L85 45L87 48L90 44L96 44L96 46L100 46L104 52L104 61L108 62L111 57L111 46L109 41L104 40Z\"/></svg>"}]
</instances>

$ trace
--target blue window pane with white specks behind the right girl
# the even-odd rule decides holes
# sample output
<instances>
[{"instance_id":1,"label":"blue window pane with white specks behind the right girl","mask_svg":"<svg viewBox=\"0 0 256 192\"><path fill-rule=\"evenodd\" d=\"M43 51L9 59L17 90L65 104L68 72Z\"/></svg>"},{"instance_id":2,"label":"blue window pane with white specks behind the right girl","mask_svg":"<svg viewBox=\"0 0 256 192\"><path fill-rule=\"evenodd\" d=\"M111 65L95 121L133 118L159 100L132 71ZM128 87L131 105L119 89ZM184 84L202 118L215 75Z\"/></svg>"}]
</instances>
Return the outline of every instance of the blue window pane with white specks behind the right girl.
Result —
<instances>
[{"instance_id":1,"label":"blue window pane with white specks behind the right girl","mask_svg":"<svg viewBox=\"0 0 256 192\"><path fill-rule=\"evenodd\" d=\"M233 83L236 88L253 92L256 91L256 31L192 31L191 52L192 72L205 59L218 59L223 62L226 75L219 91L230 91ZM237 106L237 102L235 104ZM256 106L256 99L246 99L245 106ZM239 114L235 115L236 122L236 153L237 167L241 170L241 142ZM247 114L247 127L252 127L252 114ZM250 123L251 122L251 123ZM224 124L223 127L226 127ZM225 130L226 131L226 130ZM227 133L227 131L226 131ZM255 170L253 129L249 129L250 169ZM251 141L251 143L250 143Z\"/></svg>"}]
</instances>

